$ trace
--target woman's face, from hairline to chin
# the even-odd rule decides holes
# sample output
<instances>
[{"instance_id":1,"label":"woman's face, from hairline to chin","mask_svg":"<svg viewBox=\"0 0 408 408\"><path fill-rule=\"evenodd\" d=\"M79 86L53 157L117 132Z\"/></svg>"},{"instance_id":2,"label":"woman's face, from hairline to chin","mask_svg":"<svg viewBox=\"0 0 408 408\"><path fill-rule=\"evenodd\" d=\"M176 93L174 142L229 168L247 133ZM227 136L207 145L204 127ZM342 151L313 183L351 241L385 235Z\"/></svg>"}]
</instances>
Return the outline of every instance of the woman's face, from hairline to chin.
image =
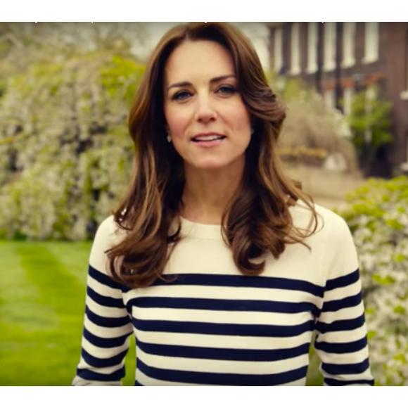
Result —
<instances>
[{"instance_id":1,"label":"woman's face, from hairline to chin","mask_svg":"<svg viewBox=\"0 0 408 408\"><path fill-rule=\"evenodd\" d=\"M167 132L185 165L220 170L243 165L250 114L229 52L216 42L184 42L165 66Z\"/></svg>"}]
</instances>

